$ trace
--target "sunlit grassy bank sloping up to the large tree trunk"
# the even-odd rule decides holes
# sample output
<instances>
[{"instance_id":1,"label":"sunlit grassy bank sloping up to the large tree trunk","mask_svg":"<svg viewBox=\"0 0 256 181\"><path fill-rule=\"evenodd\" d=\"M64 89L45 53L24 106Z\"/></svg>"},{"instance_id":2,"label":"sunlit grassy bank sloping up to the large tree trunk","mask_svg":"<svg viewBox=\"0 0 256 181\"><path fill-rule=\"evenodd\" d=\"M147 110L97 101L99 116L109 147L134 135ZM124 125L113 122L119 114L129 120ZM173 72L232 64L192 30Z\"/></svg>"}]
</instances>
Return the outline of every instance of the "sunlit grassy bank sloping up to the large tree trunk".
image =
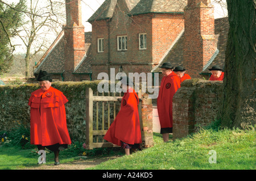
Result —
<instances>
[{"instance_id":1,"label":"sunlit grassy bank sloping up to the large tree trunk","mask_svg":"<svg viewBox=\"0 0 256 181\"><path fill-rule=\"evenodd\" d=\"M92 169L256 169L255 132L206 130L164 143L154 134L154 147L132 155L103 162ZM210 150L216 151L217 163L209 163Z\"/></svg>"}]
</instances>

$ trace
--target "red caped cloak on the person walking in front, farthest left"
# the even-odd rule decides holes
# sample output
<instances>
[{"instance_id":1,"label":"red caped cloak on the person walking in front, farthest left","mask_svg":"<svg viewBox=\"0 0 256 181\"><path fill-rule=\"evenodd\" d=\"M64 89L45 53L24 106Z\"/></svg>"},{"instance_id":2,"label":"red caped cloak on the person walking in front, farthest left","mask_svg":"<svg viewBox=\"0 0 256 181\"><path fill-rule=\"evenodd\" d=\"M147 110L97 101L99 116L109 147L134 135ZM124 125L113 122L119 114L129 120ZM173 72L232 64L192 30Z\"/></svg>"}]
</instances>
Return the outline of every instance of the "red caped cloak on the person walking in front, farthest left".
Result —
<instances>
[{"instance_id":1,"label":"red caped cloak on the person walking in front, farthest left","mask_svg":"<svg viewBox=\"0 0 256 181\"><path fill-rule=\"evenodd\" d=\"M71 144L64 104L68 102L63 92L50 87L47 91L32 92L30 106L30 138L32 145L49 146Z\"/></svg>"}]
</instances>

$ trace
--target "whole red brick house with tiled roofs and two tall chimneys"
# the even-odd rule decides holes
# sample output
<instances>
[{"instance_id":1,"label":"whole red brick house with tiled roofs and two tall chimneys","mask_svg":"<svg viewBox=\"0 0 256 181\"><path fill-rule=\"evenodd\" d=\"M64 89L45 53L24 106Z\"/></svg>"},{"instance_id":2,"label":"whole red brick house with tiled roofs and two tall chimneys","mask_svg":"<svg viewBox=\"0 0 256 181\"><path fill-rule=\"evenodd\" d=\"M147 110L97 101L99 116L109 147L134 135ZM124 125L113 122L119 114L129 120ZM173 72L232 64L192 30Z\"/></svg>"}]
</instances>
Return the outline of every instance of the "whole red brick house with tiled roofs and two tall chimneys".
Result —
<instances>
[{"instance_id":1,"label":"whole red brick house with tiled roofs and two tall chimneys","mask_svg":"<svg viewBox=\"0 0 256 181\"><path fill-rule=\"evenodd\" d=\"M83 81L122 66L125 73L160 73L163 62L191 77L224 66L228 19L215 19L209 0L106 0L81 24L81 2L66 0L67 24L35 66L53 79ZM160 78L159 78L160 79Z\"/></svg>"}]
</instances>

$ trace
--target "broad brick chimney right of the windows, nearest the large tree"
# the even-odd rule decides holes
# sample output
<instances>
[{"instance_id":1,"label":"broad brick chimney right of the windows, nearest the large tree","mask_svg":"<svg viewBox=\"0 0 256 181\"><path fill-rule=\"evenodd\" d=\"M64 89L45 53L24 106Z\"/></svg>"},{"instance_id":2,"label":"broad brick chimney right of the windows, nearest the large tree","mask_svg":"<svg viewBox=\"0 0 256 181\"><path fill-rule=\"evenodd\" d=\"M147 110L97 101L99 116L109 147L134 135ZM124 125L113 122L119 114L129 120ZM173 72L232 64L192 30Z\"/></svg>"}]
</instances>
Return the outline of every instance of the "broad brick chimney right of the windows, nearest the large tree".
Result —
<instances>
[{"instance_id":1,"label":"broad brick chimney right of the windows, nearest the large tree","mask_svg":"<svg viewBox=\"0 0 256 181\"><path fill-rule=\"evenodd\" d=\"M210 0L188 0L184 9L184 23L183 66L192 78L200 77L199 73L216 51Z\"/></svg>"}]
</instances>

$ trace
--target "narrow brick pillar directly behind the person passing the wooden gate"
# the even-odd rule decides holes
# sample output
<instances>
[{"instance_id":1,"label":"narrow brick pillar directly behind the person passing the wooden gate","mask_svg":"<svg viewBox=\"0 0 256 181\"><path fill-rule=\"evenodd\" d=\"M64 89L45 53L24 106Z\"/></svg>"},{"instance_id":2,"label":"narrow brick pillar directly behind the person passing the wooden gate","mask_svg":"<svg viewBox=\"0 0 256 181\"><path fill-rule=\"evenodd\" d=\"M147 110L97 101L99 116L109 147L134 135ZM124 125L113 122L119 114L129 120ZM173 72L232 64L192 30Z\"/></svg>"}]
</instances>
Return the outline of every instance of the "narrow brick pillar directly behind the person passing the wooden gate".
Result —
<instances>
[{"instance_id":1,"label":"narrow brick pillar directly behind the person passing the wooden gate","mask_svg":"<svg viewBox=\"0 0 256 181\"><path fill-rule=\"evenodd\" d=\"M153 106L152 99L148 98L148 94L142 94L142 120L141 120L141 136L142 148L148 148L154 145L153 141Z\"/></svg>"}]
</instances>

